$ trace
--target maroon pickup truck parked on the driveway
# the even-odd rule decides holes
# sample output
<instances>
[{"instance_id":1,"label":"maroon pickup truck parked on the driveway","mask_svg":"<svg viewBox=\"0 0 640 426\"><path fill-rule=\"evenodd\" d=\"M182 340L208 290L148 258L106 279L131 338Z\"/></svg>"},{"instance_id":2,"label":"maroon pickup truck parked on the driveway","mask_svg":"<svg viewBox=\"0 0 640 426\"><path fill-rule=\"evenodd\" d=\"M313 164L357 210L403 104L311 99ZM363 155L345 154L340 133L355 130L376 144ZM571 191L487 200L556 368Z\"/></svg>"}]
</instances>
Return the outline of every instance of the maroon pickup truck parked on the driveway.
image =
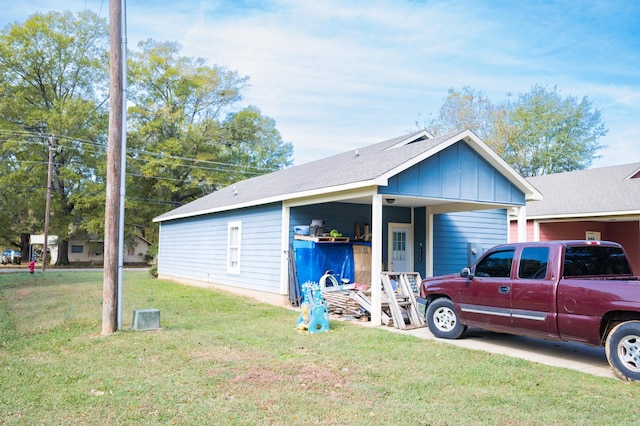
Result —
<instances>
[{"instance_id":1,"label":"maroon pickup truck parked on the driveway","mask_svg":"<svg viewBox=\"0 0 640 426\"><path fill-rule=\"evenodd\" d=\"M459 275L422 280L420 297L436 337L470 326L605 346L614 373L640 381L640 280L620 244L496 246Z\"/></svg>"}]
</instances>

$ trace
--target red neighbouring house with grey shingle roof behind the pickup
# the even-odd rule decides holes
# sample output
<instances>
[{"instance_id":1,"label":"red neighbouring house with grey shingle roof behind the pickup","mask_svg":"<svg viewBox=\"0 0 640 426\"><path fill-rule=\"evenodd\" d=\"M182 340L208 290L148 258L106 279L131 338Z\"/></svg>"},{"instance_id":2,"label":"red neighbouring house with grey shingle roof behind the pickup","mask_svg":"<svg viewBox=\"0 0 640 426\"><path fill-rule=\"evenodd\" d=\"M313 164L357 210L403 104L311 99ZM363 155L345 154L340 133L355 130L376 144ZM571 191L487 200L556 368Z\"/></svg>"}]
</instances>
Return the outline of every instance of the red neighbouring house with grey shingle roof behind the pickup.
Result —
<instances>
[{"instance_id":1,"label":"red neighbouring house with grey shingle roof behind the pickup","mask_svg":"<svg viewBox=\"0 0 640 426\"><path fill-rule=\"evenodd\" d=\"M528 178L543 195L527 202L527 240L621 243L640 274L640 163ZM511 238L517 239L516 221Z\"/></svg>"}]
</instances>

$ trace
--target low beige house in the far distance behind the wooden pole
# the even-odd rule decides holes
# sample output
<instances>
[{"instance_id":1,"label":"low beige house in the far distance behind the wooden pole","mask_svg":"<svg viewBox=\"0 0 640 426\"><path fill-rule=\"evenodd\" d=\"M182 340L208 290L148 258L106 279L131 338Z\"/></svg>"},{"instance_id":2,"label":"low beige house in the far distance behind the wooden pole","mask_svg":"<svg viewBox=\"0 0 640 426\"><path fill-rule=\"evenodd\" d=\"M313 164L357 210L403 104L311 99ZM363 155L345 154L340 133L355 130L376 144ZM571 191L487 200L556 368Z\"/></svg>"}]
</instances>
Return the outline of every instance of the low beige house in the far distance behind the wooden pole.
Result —
<instances>
[{"instance_id":1,"label":"low beige house in the far distance behind the wooden pole","mask_svg":"<svg viewBox=\"0 0 640 426\"><path fill-rule=\"evenodd\" d=\"M43 235L31 235L32 252L36 249L42 249L44 243ZM143 263L145 255L149 252L151 243L146 239L136 235L134 237L134 245L130 248L125 247L124 263ZM58 260L58 237L49 236L47 247L49 249L50 263ZM104 260L104 241L91 237L72 237L69 240L70 262L92 262L102 263Z\"/></svg>"}]
</instances>

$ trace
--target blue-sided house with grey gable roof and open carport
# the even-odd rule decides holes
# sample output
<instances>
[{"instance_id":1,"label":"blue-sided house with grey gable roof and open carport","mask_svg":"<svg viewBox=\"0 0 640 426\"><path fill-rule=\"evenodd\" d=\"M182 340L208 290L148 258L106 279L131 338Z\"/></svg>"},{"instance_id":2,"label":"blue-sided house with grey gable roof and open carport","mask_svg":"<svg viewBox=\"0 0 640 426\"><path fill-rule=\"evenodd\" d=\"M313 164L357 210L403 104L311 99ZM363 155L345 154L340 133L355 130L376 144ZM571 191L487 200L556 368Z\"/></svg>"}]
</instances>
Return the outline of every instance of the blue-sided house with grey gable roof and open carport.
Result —
<instances>
[{"instance_id":1,"label":"blue-sided house with grey gable roof and open carport","mask_svg":"<svg viewBox=\"0 0 640 426\"><path fill-rule=\"evenodd\" d=\"M294 227L314 220L366 247L369 283L384 270L458 272L508 241L510 210L525 240L525 203L540 198L470 130L419 131L236 182L155 218L158 274L286 304ZM353 242L359 233L370 238Z\"/></svg>"}]
</instances>

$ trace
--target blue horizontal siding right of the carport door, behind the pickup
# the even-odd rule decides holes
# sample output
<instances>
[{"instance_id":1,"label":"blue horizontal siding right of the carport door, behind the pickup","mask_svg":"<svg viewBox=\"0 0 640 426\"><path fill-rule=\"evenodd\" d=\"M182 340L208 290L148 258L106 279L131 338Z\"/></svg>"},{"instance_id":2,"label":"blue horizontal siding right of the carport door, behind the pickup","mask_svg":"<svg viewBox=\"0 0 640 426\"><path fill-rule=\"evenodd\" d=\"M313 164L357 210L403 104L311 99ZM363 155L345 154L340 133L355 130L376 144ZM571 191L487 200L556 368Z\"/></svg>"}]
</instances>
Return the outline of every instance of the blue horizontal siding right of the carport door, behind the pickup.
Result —
<instances>
[{"instance_id":1,"label":"blue horizontal siding right of the carport door, behind the pickup","mask_svg":"<svg viewBox=\"0 0 640 426\"><path fill-rule=\"evenodd\" d=\"M489 247L507 242L504 209L439 214L433 217L434 275L460 272L470 261L469 244L478 255ZM475 257L477 258L477 256Z\"/></svg>"}]
</instances>

